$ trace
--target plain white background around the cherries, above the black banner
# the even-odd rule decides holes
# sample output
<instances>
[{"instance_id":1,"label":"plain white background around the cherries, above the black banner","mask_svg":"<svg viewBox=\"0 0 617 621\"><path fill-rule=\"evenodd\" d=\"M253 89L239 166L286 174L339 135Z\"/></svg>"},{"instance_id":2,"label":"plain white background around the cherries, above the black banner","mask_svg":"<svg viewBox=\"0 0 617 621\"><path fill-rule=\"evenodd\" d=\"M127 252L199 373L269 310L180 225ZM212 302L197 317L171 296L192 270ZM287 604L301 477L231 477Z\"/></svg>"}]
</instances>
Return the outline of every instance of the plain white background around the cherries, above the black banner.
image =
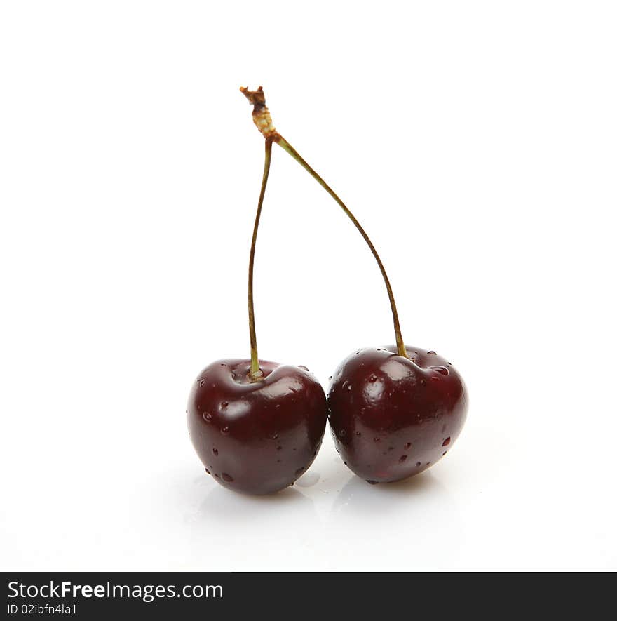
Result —
<instances>
[{"instance_id":1,"label":"plain white background around the cherries, above the black banner","mask_svg":"<svg viewBox=\"0 0 617 621\"><path fill-rule=\"evenodd\" d=\"M1 568L617 569L616 28L609 1L3 2ZM191 382L249 354L259 84L407 343L468 384L416 479L368 486L327 432L250 498L189 443ZM264 359L327 385L393 342L276 146L255 269Z\"/></svg>"}]
</instances>

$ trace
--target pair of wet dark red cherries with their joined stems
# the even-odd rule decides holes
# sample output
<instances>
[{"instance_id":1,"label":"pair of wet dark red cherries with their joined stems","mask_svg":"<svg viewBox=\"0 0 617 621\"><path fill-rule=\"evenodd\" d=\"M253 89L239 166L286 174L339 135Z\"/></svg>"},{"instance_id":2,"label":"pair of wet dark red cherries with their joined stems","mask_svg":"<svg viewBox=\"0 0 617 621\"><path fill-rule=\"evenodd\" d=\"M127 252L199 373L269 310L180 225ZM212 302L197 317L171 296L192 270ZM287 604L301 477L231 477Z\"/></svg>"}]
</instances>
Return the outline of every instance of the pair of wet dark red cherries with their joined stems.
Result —
<instances>
[{"instance_id":1,"label":"pair of wet dark red cherries with their joined stems","mask_svg":"<svg viewBox=\"0 0 617 621\"><path fill-rule=\"evenodd\" d=\"M442 356L405 346L379 255L351 211L273 126L262 87L240 89L266 140L249 261L251 359L213 362L198 376L187 407L189 434L206 472L232 490L268 494L298 479L315 459L330 421L346 465L369 483L399 481L440 460L461 432L468 397ZM255 242L272 143L289 153L334 198L364 237L386 283L396 345L359 349L332 376L327 398L303 366L259 360L252 303Z\"/></svg>"}]
</instances>

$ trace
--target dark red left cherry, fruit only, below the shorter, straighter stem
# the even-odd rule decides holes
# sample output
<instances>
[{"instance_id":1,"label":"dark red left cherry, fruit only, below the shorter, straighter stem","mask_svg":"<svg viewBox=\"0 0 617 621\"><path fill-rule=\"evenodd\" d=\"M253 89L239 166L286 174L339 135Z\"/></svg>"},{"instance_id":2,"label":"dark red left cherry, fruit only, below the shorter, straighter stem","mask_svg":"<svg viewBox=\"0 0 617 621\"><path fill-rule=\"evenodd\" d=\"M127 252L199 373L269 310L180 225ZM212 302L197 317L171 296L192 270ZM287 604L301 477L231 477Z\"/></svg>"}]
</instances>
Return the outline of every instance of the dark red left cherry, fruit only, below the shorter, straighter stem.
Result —
<instances>
[{"instance_id":1,"label":"dark red left cherry, fruit only, below the shorter, straighter stem","mask_svg":"<svg viewBox=\"0 0 617 621\"><path fill-rule=\"evenodd\" d=\"M198 376L187 407L193 446L215 481L269 494L292 485L311 465L327 420L323 388L304 367L219 360Z\"/></svg>"}]
</instances>

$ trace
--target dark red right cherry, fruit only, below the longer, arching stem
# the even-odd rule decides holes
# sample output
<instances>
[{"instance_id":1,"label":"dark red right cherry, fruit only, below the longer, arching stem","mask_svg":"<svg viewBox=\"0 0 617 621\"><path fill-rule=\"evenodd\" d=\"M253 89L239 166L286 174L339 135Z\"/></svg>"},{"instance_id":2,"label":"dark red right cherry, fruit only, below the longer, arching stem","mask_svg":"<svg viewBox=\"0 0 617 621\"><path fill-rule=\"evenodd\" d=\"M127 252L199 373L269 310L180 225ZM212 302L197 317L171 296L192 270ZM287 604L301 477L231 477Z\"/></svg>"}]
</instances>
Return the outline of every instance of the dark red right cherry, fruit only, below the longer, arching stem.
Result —
<instances>
[{"instance_id":1,"label":"dark red right cherry, fruit only, below the longer, arching stem","mask_svg":"<svg viewBox=\"0 0 617 621\"><path fill-rule=\"evenodd\" d=\"M360 349L345 359L328 394L330 427L346 465L369 483L400 481L452 448L468 396L442 356L407 347Z\"/></svg>"}]
</instances>

